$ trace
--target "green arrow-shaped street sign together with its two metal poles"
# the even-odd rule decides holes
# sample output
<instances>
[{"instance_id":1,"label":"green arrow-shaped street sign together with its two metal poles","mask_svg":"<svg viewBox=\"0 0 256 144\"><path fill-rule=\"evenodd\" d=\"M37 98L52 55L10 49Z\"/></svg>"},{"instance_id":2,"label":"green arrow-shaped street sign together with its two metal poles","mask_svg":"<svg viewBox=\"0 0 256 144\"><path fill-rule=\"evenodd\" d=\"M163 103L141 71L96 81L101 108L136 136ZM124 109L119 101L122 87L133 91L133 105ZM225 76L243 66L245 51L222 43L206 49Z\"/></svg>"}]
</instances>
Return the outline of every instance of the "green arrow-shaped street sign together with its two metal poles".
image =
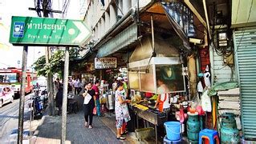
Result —
<instances>
[{"instance_id":1,"label":"green arrow-shaped street sign together with its two metal poles","mask_svg":"<svg viewBox=\"0 0 256 144\"><path fill-rule=\"evenodd\" d=\"M27 46L66 46L63 81L63 116L61 143L66 141L67 125L67 77L69 46L81 46L91 36L91 30L79 20L56 18L12 17L10 43L23 46L22 88L18 115L18 143L22 143L23 113L25 102L25 77Z\"/></svg>"}]
</instances>

